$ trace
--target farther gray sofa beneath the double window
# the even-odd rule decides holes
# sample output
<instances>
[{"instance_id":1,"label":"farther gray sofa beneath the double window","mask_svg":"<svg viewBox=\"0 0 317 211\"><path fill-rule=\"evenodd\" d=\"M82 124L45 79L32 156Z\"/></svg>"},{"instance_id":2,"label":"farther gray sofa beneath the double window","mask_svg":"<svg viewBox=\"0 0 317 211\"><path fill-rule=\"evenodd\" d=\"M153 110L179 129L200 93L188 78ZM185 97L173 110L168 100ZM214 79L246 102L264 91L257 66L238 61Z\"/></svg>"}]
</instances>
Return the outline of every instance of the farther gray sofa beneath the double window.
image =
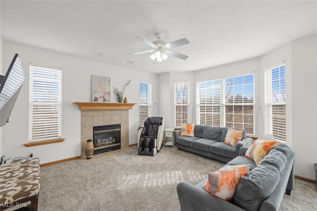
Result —
<instances>
[{"instance_id":1,"label":"farther gray sofa beneath the double window","mask_svg":"<svg viewBox=\"0 0 317 211\"><path fill-rule=\"evenodd\" d=\"M195 125L195 137L180 136L181 130L175 130L175 147L227 163L239 155L242 146L249 147L254 141L246 138L243 130L242 140L233 147L224 143L227 130L228 127Z\"/></svg>"}]
</instances>

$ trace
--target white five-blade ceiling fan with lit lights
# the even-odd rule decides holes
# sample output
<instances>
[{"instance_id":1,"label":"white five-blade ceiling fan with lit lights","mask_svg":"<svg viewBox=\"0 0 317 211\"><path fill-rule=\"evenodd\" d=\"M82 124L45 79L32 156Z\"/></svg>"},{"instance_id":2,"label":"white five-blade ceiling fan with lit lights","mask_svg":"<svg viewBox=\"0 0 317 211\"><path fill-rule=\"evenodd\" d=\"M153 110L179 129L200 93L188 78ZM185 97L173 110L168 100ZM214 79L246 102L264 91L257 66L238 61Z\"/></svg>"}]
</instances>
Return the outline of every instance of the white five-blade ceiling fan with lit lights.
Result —
<instances>
[{"instance_id":1,"label":"white five-blade ceiling fan with lit lights","mask_svg":"<svg viewBox=\"0 0 317 211\"><path fill-rule=\"evenodd\" d=\"M145 50L145 51L140 51L140 52L135 52L135 53L129 53L132 55L137 55L137 54L142 54L142 53L149 53L149 52L154 52L150 58L153 60L153 63L159 63L161 61L164 61L167 59L168 56L174 56L180 59L187 59L188 56L178 53L176 51L171 50L173 47L177 47L180 45L188 44L189 41L185 38L174 41L174 42L168 42L165 43L162 38L161 33L156 33L155 36L157 37L157 41L150 42L149 40L143 38L143 37L135 37L136 39L146 43L147 45L151 46L151 50Z\"/></svg>"}]
</instances>

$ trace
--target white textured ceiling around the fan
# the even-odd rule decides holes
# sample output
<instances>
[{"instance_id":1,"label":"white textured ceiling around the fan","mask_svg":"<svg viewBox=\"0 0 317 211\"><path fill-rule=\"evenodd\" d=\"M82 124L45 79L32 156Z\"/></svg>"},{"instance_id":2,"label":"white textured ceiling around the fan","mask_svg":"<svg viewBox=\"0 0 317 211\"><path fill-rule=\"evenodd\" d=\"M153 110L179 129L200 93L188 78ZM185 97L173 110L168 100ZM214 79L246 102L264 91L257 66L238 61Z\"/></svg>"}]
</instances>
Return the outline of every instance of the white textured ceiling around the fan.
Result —
<instances>
[{"instance_id":1,"label":"white textured ceiling around the fan","mask_svg":"<svg viewBox=\"0 0 317 211\"><path fill-rule=\"evenodd\" d=\"M0 8L6 42L156 74L254 58L317 33L317 1L1 0ZM157 32L166 42L186 38L173 50L189 58L127 55L150 49L136 36L152 42Z\"/></svg>"}]
</instances>

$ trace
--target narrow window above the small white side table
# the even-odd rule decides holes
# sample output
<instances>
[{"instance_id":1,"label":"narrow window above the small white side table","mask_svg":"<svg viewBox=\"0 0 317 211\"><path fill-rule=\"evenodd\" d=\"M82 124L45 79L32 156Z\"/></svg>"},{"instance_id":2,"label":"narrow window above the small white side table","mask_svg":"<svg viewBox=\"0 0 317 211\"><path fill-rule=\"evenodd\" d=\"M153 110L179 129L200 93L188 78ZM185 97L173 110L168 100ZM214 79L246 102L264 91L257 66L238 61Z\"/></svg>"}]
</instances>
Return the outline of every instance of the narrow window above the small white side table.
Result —
<instances>
[{"instance_id":1,"label":"narrow window above the small white side table","mask_svg":"<svg viewBox=\"0 0 317 211\"><path fill-rule=\"evenodd\" d=\"M174 84L174 126L182 127L182 124L188 123L189 111L189 84L188 83L175 83Z\"/></svg>"}]
</instances>

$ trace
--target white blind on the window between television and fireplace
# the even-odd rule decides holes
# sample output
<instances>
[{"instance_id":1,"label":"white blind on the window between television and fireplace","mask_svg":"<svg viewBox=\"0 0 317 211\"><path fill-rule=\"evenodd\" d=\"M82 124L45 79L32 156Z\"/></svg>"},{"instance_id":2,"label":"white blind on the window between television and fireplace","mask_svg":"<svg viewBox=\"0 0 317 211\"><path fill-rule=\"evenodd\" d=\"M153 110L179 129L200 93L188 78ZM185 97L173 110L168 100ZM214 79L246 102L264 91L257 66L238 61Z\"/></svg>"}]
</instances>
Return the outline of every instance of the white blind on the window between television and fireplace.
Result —
<instances>
[{"instance_id":1,"label":"white blind on the window between television and fireplace","mask_svg":"<svg viewBox=\"0 0 317 211\"><path fill-rule=\"evenodd\" d=\"M29 142L61 138L61 71L30 65Z\"/></svg>"}]
</instances>

